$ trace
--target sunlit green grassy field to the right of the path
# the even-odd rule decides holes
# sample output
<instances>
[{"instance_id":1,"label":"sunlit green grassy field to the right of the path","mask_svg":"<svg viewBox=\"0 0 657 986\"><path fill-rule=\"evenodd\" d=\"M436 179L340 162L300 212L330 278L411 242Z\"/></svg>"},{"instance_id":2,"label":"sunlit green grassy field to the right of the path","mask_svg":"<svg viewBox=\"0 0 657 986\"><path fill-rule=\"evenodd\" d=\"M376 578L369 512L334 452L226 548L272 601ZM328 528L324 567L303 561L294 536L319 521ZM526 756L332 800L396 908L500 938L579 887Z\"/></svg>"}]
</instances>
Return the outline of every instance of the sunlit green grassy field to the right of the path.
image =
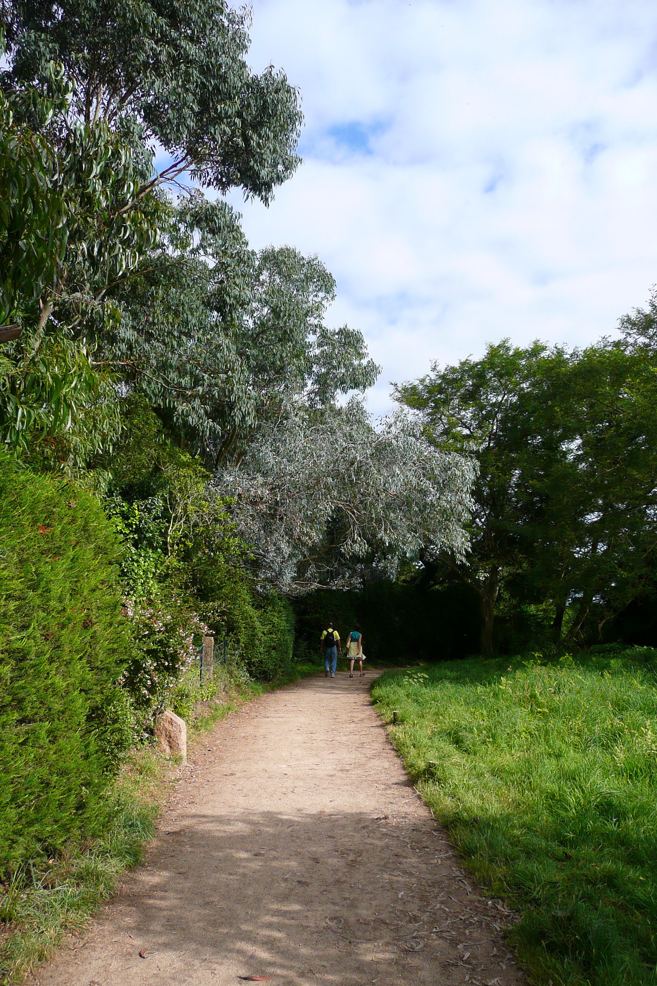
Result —
<instances>
[{"instance_id":1,"label":"sunlit green grassy field to the right of the path","mask_svg":"<svg viewBox=\"0 0 657 986\"><path fill-rule=\"evenodd\" d=\"M372 685L434 816L522 912L535 983L657 983L657 652L387 671Z\"/></svg>"}]
</instances>

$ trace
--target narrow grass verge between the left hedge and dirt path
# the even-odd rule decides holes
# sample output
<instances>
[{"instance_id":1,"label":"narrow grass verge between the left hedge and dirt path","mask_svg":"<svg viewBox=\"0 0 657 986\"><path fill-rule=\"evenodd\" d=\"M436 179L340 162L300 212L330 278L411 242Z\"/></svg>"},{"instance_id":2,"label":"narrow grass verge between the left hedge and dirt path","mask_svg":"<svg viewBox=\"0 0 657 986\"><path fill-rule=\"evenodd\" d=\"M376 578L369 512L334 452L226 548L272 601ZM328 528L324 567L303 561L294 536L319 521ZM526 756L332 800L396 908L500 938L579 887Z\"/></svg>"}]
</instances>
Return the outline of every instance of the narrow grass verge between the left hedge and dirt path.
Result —
<instances>
[{"instance_id":1,"label":"narrow grass verge between the left hedge and dirt path","mask_svg":"<svg viewBox=\"0 0 657 986\"><path fill-rule=\"evenodd\" d=\"M193 681L183 680L179 713L187 722L189 745L245 702L317 670L316 665L291 665L272 684L221 668L212 688L197 689ZM151 746L133 751L106 796L105 831L97 838L72 842L57 858L29 861L0 884L2 986L25 979L61 946L67 933L82 932L114 892L121 874L143 861L176 768Z\"/></svg>"}]
</instances>

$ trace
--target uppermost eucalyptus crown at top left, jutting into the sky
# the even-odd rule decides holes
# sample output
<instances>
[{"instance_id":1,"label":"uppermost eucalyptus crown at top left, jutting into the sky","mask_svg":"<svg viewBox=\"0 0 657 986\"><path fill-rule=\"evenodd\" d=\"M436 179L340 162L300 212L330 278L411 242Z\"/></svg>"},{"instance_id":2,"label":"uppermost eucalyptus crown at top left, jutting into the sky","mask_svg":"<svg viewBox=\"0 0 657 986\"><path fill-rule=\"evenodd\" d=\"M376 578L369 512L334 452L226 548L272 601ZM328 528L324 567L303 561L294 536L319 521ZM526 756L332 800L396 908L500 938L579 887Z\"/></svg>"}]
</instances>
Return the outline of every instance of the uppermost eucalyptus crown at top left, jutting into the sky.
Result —
<instances>
[{"instance_id":1,"label":"uppermost eucalyptus crown at top left, jutting into the sky","mask_svg":"<svg viewBox=\"0 0 657 986\"><path fill-rule=\"evenodd\" d=\"M266 202L294 173L298 94L271 66L251 72L248 15L226 0L3 0L3 20L14 79L61 63L86 125L164 148L140 194L191 172Z\"/></svg>"}]
</instances>

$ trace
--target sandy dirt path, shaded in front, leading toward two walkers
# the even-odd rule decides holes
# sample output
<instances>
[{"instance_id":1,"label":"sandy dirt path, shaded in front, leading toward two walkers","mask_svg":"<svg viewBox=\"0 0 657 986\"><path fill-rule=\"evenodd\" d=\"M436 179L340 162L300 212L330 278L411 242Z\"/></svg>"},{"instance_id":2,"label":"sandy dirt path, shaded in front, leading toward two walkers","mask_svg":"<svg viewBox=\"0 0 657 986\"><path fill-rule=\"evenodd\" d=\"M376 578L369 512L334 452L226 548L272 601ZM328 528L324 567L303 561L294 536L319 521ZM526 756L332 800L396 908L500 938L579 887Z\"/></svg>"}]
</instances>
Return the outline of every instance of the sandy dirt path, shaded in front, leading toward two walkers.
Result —
<instances>
[{"instance_id":1,"label":"sandy dirt path, shaded in front, leading toward two walkers","mask_svg":"<svg viewBox=\"0 0 657 986\"><path fill-rule=\"evenodd\" d=\"M218 725L147 866L34 982L524 983L500 933L509 916L459 869L370 681L306 678Z\"/></svg>"}]
</instances>

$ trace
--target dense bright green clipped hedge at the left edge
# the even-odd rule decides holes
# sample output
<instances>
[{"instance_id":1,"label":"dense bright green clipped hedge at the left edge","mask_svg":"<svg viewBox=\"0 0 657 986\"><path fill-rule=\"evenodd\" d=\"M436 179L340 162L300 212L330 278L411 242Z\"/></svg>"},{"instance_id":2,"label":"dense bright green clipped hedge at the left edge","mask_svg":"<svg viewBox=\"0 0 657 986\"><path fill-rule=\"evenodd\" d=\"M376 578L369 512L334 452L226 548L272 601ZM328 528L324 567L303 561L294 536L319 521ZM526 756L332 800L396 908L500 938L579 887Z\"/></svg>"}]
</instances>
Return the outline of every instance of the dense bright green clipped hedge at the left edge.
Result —
<instances>
[{"instance_id":1,"label":"dense bright green clipped hedge at the left edge","mask_svg":"<svg viewBox=\"0 0 657 986\"><path fill-rule=\"evenodd\" d=\"M132 741L116 560L93 495L0 455L0 869L91 834Z\"/></svg>"}]
</instances>

